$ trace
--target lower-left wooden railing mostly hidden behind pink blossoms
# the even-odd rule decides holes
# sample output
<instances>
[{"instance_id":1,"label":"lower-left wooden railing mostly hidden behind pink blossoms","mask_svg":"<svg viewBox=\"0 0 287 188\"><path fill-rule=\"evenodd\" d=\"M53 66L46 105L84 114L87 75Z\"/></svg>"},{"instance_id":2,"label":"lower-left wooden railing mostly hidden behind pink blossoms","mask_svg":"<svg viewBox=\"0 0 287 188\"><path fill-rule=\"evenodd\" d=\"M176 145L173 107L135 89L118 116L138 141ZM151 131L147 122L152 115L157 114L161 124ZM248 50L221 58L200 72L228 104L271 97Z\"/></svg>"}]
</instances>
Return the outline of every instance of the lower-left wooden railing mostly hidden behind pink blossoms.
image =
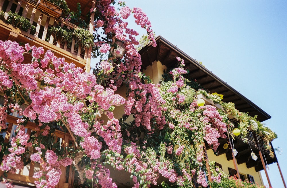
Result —
<instances>
[{"instance_id":1,"label":"lower-left wooden railing mostly hidden behind pink blossoms","mask_svg":"<svg viewBox=\"0 0 287 188\"><path fill-rule=\"evenodd\" d=\"M19 118L7 115L7 131L4 139L5 143L8 143L9 140L11 140L11 137L13 137L13 131L15 130L15 127L17 126L17 120ZM31 134L32 131L36 131L36 124L33 122L28 122L27 125L25 126L26 128L26 133ZM40 134L38 131L37 134ZM57 130L55 132L54 136L55 140L60 140L61 141L61 147L69 147L69 143L73 143L73 139L68 133L61 132ZM27 148L29 150L29 148ZM32 154L33 151L30 152ZM26 158L30 157L30 154L26 155ZM37 179L33 178L33 175L35 172L40 170L40 165L38 163L35 163L34 161L31 161L29 164L25 165L22 169L17 170L16 173L7 173L7 179L11 179L12 181L16 181L17 183L22 183L22 184L28 184L28 185L33 185L34 181ZM62 175L59 181L59 184L57 187L59 188L68 188L71 187L73 179L74 179L74 173L73 169L71 166L68 167L63 167L61 166L61 171ZM0 177L4 174L3 171L0 171Z\"/></svg>"}]
</instances>

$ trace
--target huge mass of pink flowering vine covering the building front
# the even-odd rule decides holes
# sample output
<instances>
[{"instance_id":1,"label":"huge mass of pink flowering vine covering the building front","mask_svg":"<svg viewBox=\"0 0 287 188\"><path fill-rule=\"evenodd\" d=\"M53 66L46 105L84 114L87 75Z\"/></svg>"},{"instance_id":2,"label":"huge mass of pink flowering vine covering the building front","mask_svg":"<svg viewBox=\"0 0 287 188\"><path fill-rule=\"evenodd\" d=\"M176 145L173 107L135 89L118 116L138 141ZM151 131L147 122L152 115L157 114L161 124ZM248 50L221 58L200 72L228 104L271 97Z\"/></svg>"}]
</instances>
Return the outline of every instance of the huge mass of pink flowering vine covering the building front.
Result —
<instances>
[{"instance_id":1,"label":"huge mass of pink flowering vine covering the building front","mask_svg":"<svg viewBox=\"0 0 287 188\"><path fill-rule=\"evenodd\" d=\"M187 187L196 173L197 182L207 187L199 170L206 165L203 143L216 150L227 131L218 110L197 106L179 57L179 67L157 86L141 73L138 32L123 19L133 15L156 46L142 9L124 6L117 12L104 0L90 12L95 14L93 50L100 58L94 74L43 47L0 41L0 130L6 131L8 114L20 116L10 143L6 139L0 145L0 170L15 173L29 156L40 166L33 175L37 188L58 186L69 165L77 171L79 187L117 187L107 167L129 173L133 187L158 185L161 176L168 184ZM125 52L117 58L113 52L119 40ZM25 58L30 54L25 63L24 52Z\"/></svg>"}]
</instances>

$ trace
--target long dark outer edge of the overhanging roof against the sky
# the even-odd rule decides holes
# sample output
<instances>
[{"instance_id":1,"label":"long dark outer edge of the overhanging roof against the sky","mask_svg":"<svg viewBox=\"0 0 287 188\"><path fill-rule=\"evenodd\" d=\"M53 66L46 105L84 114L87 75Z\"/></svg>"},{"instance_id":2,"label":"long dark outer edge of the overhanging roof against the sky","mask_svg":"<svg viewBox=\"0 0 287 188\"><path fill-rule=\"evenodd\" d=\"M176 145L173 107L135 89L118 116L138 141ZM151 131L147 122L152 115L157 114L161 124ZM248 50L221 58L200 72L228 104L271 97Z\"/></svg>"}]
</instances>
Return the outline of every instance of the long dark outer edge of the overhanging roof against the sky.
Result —
<instances>
[{"instance_id":1,"label":"long dark outer edge of the overhanging roof against the sky","mask_svg":"<svg viewBox=\"0 0 287 188\"><path fill-rule=\"evenodd\" d=\"M213 74L210 70L208 70L207 68L203 67L201 64L199 64L197 61L195 61L193 58L191 58L189 55L187 55L185 52L183 52L182 50L180 50L179 48L177 48L177 46L173 45L172 43L170 43L168 40L166 40L165 38L163 38L162 36L157 36L156 37L156 42L160 41L162 43L164 43L165 45L168 45L170 48L173 48L174 51L176 51L177 53L181 54L183 56L183 58L185 58L188 61L191 61L193 64L195 64L198 68L200 68L201 70L203 70L206 74L212 76L215 80L217 80L218 82L220 82L222 85L226 86L226 88L228 88L229 90L231 90L232 92L234 92L235 94L237 94L240 98L242 98L243 100L245 100L245 102L247 102L248 104L250 104L251 106L253 106L256 110L258 110L261 114L263 114L267 119L270 119L271 116L269 114L267 114L264 110L262 110L259 106L257 106L256 104L254 104L253 102L251 102L251 100L247 99L245 96L243 96L241 93L239 93L237 90L235 90L234 88L232 88L230 85L228 85L226 82L224 82L223 80L221 80L218 76L216 76L215 74ZM151 44L148 44L146 46L147 48L152 47ZM144 47L142 50L145 50L146 48ZM147 49L146 49L147 50ZM140 50L141 51L141 50Z\"/></svg>"}]
</instances>

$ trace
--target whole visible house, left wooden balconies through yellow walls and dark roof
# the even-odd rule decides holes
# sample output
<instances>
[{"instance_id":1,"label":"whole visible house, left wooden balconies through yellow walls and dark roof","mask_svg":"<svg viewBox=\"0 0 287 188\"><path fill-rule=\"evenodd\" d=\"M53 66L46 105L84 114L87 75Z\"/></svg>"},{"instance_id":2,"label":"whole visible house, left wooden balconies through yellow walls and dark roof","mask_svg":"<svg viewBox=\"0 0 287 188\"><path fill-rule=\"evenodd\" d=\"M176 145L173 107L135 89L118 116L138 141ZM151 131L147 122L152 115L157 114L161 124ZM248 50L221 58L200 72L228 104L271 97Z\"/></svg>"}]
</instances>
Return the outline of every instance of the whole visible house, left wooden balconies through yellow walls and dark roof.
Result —
<instances>
[{"instance_id":1,"label":"whole visible house, left wooden balconies through yellow walls and dark roof","mask_svg":"<svg viewBox=\"0 0 287 188\"><path fill-rule=\"evenodd\" d=\"M82 18L84 19L85 15L88 15L90 12L90 8L93 7L93 4L92 1L89 0L81 0L80 2L82 7L84 7L84 9L82 9ZM64 14L63 10L59 9L59 11L54 11L54 9L49 7L51 5L47 5L47 3L48 2L44 0L39 0L38 2L33 0L0 0L0 11L5 13L0 20L0 39L21 43L28 42L30 45L42 46L45 51L51 50L56 56L65 57L67 62L73 62L76 66L86 70L86 72L90 72L91 47L82 47L80 43L77 43L75 38L71 38L71 43L68 43L67 41L62 42L61 38L57 37L57 35L49 33L49 27L51 26L61 27L65 30L77 29L78 26L62 17ZM77 11L75 1L68 1L67 5L71 10ZM25 29L26 31L23 31L23 26L21 26L22 28L15 27L19 26L15 24L15 21L11 21L10 23L6 22L9 17L9 11L17 13L24 17L24 19L29 20L30 26ZM90 16L90 20L93 20L93 13ZM34 27L31 25L34 25ZM92 33L92 22L89 23L88 30ZM160 81L163 70L172 67L176 61L174 57L179 56L185 59L187 68L190 71L190 79L196 79L201 86L204 86L210 92L223 94L224 101L233 102L236 108L241 112L249 112L251 116L257 115L257 118L260 121L271 118L250 100L220 80L220 78L212 74L212 72L201 66L198 62L190 58L163 37L157 37L156 42L158 44L156 48L147 45L140 50L143 62L142 70L152 78L154 83ZM5 142L9 142L9 139L13 134L13 127L17 124L17 119L17 117L8 115L7 122L9 123L9 126L7 133L4 135ZM231 119L234 121L234 124L236 124L236 119ZM29 122L26 128L27 132L31 132L32 130L35 130L35 124ZM255 181L259 183L259 185L262 185L263 182L260 171L264 170L267 179L269 179L265 165L275 162L278 163L276 156L274 158L269 157L269 151L263 147L262 138L252 131L249 131L247 143L243 142L243 139L241 139L240 136L235 136L235 140L232 141L230 138L232 135L231 132L232 130L229 130L228 132L229 139L220 139L220 144L224 145L225 143L228 143L229 147L219 148L216 155L210 148L206 148L206 157L209 160L216 161L217 165L227 174L236 175L238 178ZM57 140L61 140L64 146L73 142L68 133L57 131L55 136L57 137ZM238 152L236 156L234 156L234 153L232 152L233 148ZM258 158L257 161L254 161L251 158L251 152L256 154ZM15 185L19 184L26 187L34 186L33 183L35 179L32 175L34 171L39 168L40 167L37 166L37 164L31 162L27 164L22 171L18 171L16 174L7 173L7 178L11 179ZM60 182L57 186L71 187L75 175L72 167L63 167L61 170L66 171L66 173L61 175ZM0 176L2 175L3 172L0 171ZM117 176L117 174L115 174L115 176ZM129 179L129 176L127 176L127 179ZM120 181L119 187L125 183L124 180ZM269 182L269 186L271 187L271 182ZM123 187L131 186L124 185Z\"/></svg>"}]
</instances>

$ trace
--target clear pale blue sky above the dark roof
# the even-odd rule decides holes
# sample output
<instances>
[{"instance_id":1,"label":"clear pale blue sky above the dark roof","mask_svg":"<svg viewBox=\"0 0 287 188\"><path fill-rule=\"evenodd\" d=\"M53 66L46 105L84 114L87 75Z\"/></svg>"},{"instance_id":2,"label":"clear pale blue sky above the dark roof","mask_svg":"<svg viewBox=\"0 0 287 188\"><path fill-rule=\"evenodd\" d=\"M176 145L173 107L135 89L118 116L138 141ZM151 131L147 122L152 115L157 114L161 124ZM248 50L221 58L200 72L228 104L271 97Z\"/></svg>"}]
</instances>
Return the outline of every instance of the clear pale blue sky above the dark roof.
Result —
<instances>
[{"instance_id":1,"label":"clear pale blue sky above the dark roof","mask_svg":"<svg viewBox=\"0 0 287 188\"><path fill-rule=\"evenodd\" d=\"M278 134L272 144L282 150L276 155L287 180L287 1L126 1L144 10L156 35L203 62L272 116L264 123ZM276 163L269 168L272 187L284 187Z\"/></svg>"}]
</instances>

